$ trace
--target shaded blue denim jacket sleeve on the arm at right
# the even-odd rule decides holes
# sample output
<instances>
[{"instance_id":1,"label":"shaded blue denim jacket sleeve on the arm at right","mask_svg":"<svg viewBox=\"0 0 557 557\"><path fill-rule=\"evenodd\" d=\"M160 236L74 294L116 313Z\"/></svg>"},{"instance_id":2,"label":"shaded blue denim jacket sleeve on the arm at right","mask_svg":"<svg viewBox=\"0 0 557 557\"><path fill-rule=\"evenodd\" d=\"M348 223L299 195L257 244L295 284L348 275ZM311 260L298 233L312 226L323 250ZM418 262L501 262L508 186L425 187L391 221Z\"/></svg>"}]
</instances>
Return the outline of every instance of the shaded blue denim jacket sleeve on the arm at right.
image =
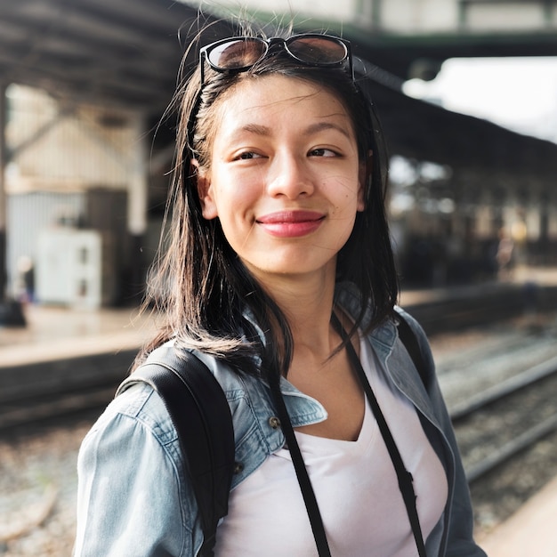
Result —
<instances>
[{"instance_id":1,"label":"shaded blue denim jacket sleeve on the arm at right","mask_svg":"<svg viewBox=\"0 0 557 557\"><path fill-rule=\"evenodd\" d=\"M432 412L440 430L448 441L448 446L454 457L454 490L450 507L448 508L448 530L446 532L447 557L486 557L486 553L473 540L473 511L470 490L464 473L464 466L460 451L456 443L453 425L448 415L448 409L440 391L440 385L435 375L435 365L432 351L424 330L408 313L404 312L410 327L417 336L420 351L424 358L427 376L424 377ZM450 472L449 472L450 473Z\"/></svg>"}]
</instances>

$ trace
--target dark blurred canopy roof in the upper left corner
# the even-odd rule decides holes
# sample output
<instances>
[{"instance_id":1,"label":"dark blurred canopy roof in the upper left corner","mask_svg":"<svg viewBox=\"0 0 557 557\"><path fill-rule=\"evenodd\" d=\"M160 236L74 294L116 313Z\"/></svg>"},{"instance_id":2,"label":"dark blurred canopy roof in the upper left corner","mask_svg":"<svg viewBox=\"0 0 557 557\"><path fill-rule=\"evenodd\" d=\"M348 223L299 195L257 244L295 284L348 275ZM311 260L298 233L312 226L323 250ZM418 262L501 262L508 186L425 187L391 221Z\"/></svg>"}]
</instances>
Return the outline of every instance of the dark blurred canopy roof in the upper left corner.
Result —
<instances>
[{"instance_id":1,"label":"dark blurred canopy roof in the upper left corner","mask_svg":"<svg viewBox=\"0 0 557 557\"><path fill-rule=\"evenodd\" d=\"M0 79L157 114L196 14L170 0L2 0Z\"/></svg>"}]
</instances>

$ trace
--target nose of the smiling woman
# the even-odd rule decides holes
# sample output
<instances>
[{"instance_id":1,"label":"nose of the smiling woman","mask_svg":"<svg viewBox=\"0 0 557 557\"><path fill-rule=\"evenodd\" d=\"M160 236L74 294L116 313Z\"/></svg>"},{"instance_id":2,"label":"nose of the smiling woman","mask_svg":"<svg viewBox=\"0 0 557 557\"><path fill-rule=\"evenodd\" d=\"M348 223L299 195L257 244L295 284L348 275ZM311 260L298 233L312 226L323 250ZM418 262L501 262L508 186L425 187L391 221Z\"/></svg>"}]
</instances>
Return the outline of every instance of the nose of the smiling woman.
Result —
<instances>
[{"instance_id":1,"label":"nose of the smiling woman","mask_svg":"<svg viewBox=\"0 0 557 557\"><path fill-rule=\"evenodd\" d=\"M305 157L285 153L275 157L267 181L267 193L271 197L284 196L295 199L313 193L314 182Z\"/></svg>"}]
</instances>

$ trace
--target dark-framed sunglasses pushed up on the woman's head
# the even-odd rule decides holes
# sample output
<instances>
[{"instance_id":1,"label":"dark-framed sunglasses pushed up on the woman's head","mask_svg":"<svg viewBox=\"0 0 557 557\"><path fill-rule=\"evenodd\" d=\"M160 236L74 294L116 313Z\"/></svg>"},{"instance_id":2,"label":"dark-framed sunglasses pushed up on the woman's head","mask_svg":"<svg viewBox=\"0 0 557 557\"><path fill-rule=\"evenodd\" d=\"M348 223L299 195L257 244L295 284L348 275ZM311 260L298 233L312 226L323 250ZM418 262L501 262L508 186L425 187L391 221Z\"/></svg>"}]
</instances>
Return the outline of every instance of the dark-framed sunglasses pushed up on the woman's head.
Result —
<instances>
[{"instance_id":1,"label":"dark-framed sunglasses pushed up on the woman's head","mask_svg":"<svg viewBox=\"0 0 557 557\"><path fill-rule=\"evenodd\" d=\"M238 73L282 51L306 66L317 68L343 66L347 62L348 72L354 78L350 43L336 36L310 33L287 39L238 36L208 44L199 51L201 86L205 84L204 62L222 73Z\"/></svg>"}]
</instances>

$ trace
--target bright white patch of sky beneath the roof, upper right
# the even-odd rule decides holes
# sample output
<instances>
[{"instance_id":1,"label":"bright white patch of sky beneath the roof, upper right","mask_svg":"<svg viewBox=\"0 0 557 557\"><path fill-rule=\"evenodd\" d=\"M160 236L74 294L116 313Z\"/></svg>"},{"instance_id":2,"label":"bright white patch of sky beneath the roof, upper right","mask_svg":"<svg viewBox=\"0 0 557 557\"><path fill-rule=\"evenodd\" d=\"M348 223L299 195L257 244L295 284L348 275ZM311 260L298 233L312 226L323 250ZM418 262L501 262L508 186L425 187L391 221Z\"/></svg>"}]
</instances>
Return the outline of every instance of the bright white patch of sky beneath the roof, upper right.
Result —
<instances>
[{"instance_id":1,"label":"bright white patch of sky beneath the roof, upper right","mask_svg":"<svg viewBox=\"0 0 557 557\"><path fill-rule=\"evenodd\" d=\"M408 94L557 142L557 57L452 59L432 82Z\"/></svg>"}]
</instances>

